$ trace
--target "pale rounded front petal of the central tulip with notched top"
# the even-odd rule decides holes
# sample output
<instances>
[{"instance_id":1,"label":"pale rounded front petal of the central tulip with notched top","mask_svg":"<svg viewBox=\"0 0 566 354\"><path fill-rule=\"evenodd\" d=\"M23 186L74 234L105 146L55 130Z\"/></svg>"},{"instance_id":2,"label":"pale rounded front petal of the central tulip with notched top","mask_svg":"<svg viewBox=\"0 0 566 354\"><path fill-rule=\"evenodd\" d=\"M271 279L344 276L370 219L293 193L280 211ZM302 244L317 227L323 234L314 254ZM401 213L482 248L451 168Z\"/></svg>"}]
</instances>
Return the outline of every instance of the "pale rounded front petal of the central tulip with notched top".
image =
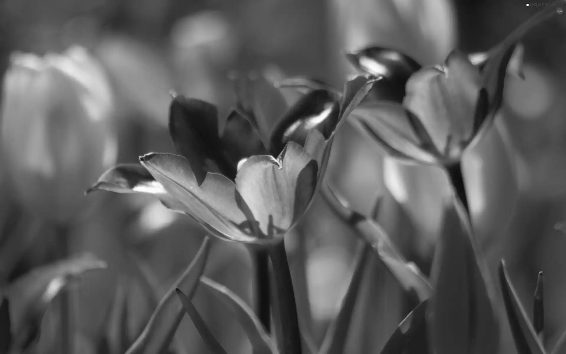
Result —
<instances>
[{"instance_id":1,"label":"pale rounded front petal of the central tulip with notched top","mask_svg":"<svg viewBox=\"0 0 566 354\"><path fill-rule=\"evenodd\" d=\"M318 180L318 164L301 146L290 142L278 161L252 156L238 171L236 188L269 235L270 224L287 231L310 205ZM270 221L271 220L271 221Z\"/></svg>"}]
</instances>

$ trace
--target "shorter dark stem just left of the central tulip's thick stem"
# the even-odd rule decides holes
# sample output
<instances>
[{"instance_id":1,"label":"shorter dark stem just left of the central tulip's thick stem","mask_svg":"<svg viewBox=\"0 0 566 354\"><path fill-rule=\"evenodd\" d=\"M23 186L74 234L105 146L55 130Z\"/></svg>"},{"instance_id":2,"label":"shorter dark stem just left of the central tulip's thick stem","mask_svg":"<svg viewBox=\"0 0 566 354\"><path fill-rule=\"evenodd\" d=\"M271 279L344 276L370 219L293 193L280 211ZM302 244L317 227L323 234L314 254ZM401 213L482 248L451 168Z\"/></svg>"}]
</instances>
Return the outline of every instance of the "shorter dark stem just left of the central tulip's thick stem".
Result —
<instances>
[{"instance_id":1,"label":"shorter dark stem just left of the central tulip's thick stem","mask_svg":"<svg viewBox=\"0 0 566 354\"><path fill-rule=\"evenodd\" d=\"M271 331L271 291L269 286L269 254L267 250L250 249L255 267L255 305L261 324Z\"/></svg>"}]
</instances>

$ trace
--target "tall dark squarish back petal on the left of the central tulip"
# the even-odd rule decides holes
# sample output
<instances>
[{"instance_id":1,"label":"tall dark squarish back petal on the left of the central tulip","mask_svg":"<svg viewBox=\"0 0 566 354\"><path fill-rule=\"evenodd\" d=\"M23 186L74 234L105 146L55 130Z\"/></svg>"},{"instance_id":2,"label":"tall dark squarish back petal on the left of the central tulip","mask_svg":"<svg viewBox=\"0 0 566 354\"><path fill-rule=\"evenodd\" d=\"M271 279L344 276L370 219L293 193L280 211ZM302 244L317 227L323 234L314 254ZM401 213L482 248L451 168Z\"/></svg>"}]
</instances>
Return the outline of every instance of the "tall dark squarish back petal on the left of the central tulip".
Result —
<instances>
[{"instance_id":1,"label":"tall dark squarish back petal on the left of the central tulip","mask_svg":"<svg viewBox=\"0 0 566 354\"><path fill-rule=\"evenodd\" d=\"M207 172L235 176L238 161L222 153L216 106L203 100L176 96L169 108L169 134L180 155L191 164L199 185Z\"/></svg>"}]
</instances>

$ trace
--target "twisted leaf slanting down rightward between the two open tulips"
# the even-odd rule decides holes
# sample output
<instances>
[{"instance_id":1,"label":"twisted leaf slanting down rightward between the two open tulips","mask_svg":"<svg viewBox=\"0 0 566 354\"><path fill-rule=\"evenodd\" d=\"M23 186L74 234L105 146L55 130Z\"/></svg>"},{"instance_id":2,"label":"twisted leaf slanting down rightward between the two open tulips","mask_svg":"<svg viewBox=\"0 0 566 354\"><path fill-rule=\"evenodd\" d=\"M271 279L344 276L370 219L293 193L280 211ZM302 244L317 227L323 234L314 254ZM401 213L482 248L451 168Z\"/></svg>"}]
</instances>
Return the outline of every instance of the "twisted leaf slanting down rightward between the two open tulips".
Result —
<instances>
[{"instance_id":1,"label":"twisted leaf slanting down rightward between the two open tulips","mask_svg":"<svg viewBox=\"0 0 566 354\"><path fill-rule=\"evenodd\" d=\"M426 276L413 262L406 261L376 221L351 210L344 198L341 198L329 184L323 184L321 191L332 210L346 223L350 224L362 240L368 242L374 248L381 262L395 276L405 291L414 291L420 301L424 301L432 295L432 287Z\"/></svg>"}]
</instances>

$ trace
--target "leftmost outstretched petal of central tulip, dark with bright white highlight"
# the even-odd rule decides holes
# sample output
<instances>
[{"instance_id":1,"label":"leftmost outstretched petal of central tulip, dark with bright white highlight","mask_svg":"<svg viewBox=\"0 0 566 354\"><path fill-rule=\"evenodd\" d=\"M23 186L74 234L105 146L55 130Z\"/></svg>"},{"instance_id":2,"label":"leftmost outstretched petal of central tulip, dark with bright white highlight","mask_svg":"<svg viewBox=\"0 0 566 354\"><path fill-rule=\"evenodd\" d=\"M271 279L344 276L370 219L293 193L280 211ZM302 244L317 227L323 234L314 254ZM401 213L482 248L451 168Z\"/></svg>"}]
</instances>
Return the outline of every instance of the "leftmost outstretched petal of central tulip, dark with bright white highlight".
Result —
<instances>
[{"instance_id":1,"label":"leftmost outstretched petal of central tulip, dark with bright white highlight","mask_svg":"<svg viewBox=\"0 0 566 354\"><path fill-rule=\"evenodd\" d=\"M121 164L108 169L86 193L107 190L114 193L144 193L157 197L168 209L186 213L187 208L174 198L139 164Z\"/></svg>"}]
</instances>

